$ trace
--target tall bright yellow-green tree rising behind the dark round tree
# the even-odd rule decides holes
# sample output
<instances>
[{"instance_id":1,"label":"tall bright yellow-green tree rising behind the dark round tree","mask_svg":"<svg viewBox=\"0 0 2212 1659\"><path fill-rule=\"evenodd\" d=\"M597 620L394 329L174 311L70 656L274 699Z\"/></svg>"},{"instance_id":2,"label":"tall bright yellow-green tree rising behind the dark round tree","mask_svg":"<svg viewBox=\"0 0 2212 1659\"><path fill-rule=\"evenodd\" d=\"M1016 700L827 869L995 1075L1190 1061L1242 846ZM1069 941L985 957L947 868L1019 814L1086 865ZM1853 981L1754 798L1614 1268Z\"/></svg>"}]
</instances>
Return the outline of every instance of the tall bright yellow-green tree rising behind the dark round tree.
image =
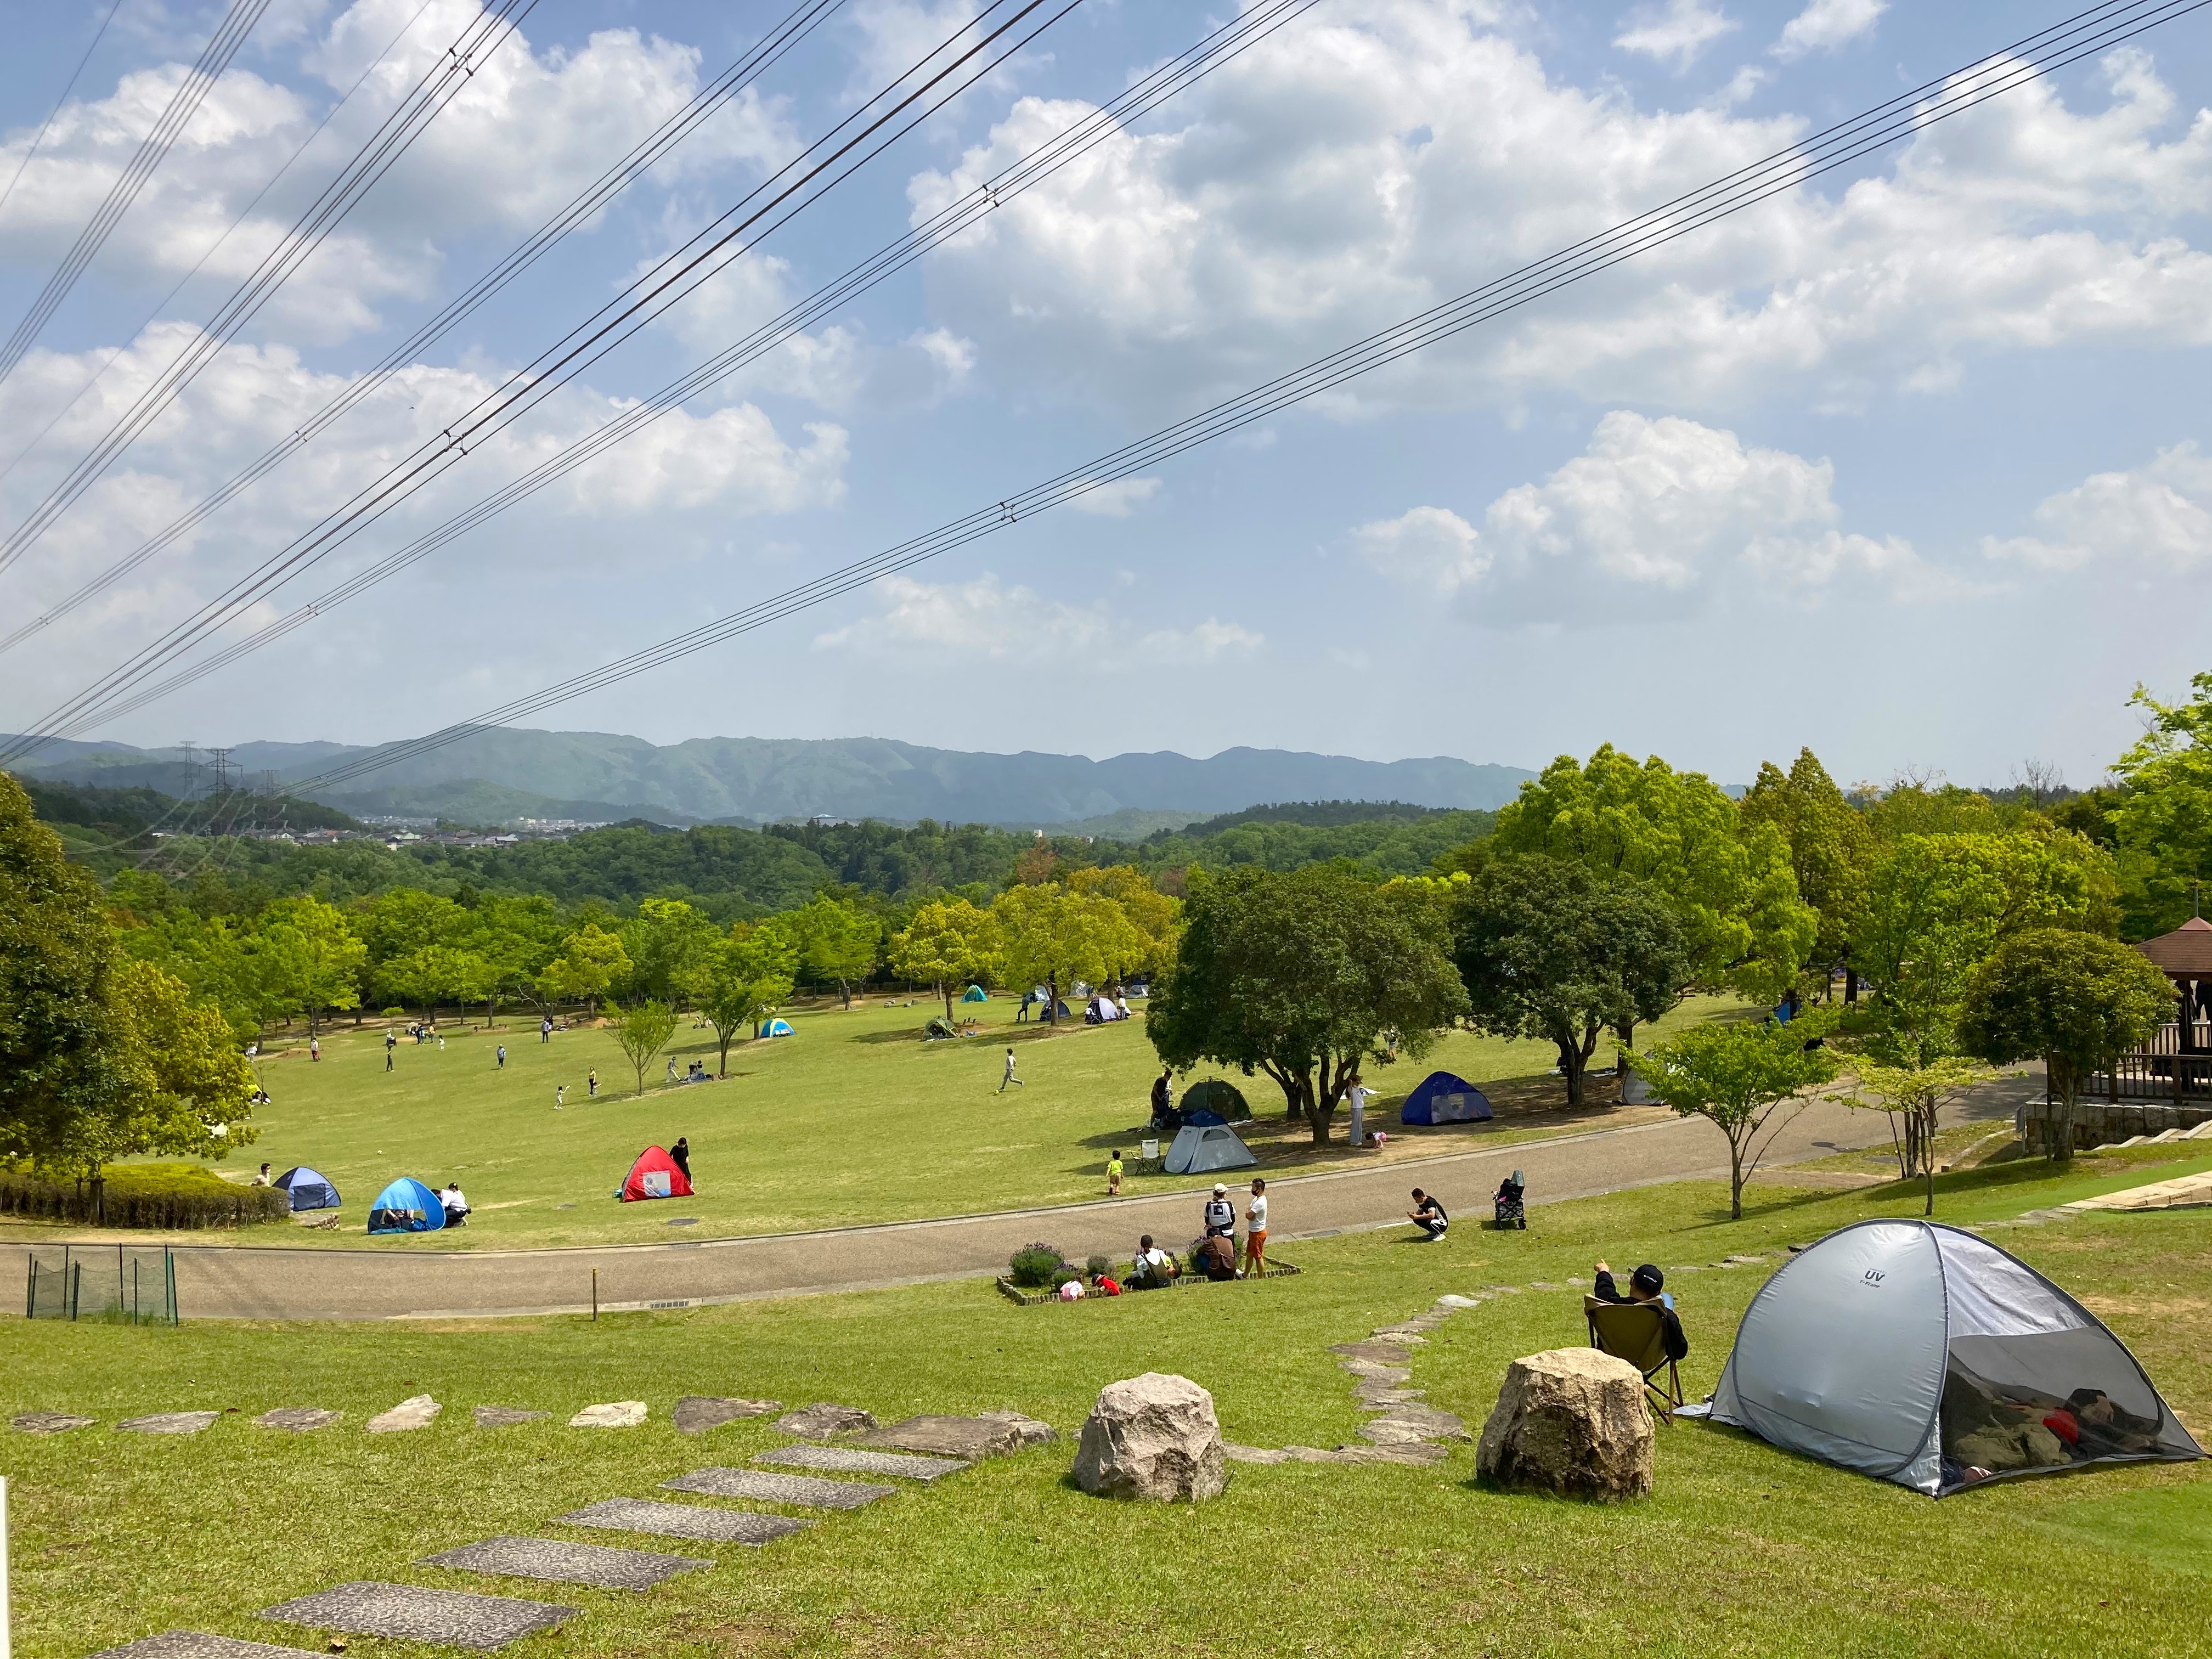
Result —
<instances>
[{"instance_id":1,"label":"tall bright yellow-green tree rising behind the dark round tree","mask_svg":"<svg viewBox=\"0 0 2212 1659\"><path fill-rule=\"evenodd\" d=\"M1681 918L1692 987L1734 987L1772 1002L1812 951L1818 916L1796 891L1790 843L1745 818L1701 772L1657 754L1637 763L1610 743L1588 765L1562 754L1498 814L1502 856L1544 854L1601 876L1632 876L1666 894ZM1624 1029L1621 1042L1635 1037Z\"/></svg>"}]
</instances>

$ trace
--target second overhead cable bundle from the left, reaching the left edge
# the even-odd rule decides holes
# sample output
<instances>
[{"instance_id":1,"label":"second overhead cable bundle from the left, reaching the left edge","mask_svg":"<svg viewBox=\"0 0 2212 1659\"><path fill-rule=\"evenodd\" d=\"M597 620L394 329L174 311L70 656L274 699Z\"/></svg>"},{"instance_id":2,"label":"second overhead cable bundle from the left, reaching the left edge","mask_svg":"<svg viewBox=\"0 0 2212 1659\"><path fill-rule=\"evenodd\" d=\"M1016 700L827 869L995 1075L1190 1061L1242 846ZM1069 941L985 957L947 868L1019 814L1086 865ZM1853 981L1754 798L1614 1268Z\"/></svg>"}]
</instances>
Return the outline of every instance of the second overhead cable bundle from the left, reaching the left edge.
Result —
<instances>
[{"instance_id":1,"label":"second overhead cable bundle from the left, reaching the left edge","mask_svg":"<svg viewBox=\"0 0 2212 1659\"><path fill-rule=\"evenodd\" d=\"M170 403L239 336L270 296L292 276L323 239L345 219L347 212L376 186L385 173L407 153L438 113L469 84L491 53L495 53L515 24L531 13L538 0L491 0L471 15L460 38L425 71L422 80L383 119L369 142L307 206L292 230L261 259L230 294L217 314L186 343L177 358L131 403L108 434L93 445L46 498L31 509L7 542L0 542L0 571L20 560L46 529L69 511L113 467L122 453L137 442Z\"/></svg>"}]
</instances>

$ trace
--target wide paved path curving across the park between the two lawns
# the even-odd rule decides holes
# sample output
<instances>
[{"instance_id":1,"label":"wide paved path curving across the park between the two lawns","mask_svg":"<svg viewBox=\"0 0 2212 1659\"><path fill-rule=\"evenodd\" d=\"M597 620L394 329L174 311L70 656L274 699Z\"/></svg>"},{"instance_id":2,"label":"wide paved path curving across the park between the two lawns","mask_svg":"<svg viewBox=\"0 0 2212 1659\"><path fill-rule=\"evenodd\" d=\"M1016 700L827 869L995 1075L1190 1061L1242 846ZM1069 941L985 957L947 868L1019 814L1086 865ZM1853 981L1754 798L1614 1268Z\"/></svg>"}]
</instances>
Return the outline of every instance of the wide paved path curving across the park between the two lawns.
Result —
<instances>
[{"instance_id":1,"label":"wide paved path curving across the park between the two lawns","mask_svg":"<svg viewBox=\"0 0 2212 1659\"><path fill-rule=\"evenodd\" d=\"M1973 1095L1960 1117L2000 1119L2039 1084L2004 1077ZM1878 1113L1838 1102L1807 1106L1774 1141L1765 1164L1792 1164L1887 1144ZM1531 1203L1728 1175L1728 1148L1703 1121L1668 1119L1635 1128L1520 1141L1267 1183L1274 1241L1389 1225L1411 1208L1407 1190L1433 1190L1462 1228L1486 1214L1509 1170L1528 1177ZM471 1314L697 1307L757 1296L874 1290L998 1272L1033 1239L1071 1259L1126 1256L1137 1234L1168 1250L1199 1234L1199 1194L1104 1199L1048 1210L896 1221L754 1239L577 1250L316 1250L276 1245L179 1245L177 1305L186 1318L436 1318ZM22 1283L24 1245L0 1245L0 1283Z\"/></svg>"}]
</instances>

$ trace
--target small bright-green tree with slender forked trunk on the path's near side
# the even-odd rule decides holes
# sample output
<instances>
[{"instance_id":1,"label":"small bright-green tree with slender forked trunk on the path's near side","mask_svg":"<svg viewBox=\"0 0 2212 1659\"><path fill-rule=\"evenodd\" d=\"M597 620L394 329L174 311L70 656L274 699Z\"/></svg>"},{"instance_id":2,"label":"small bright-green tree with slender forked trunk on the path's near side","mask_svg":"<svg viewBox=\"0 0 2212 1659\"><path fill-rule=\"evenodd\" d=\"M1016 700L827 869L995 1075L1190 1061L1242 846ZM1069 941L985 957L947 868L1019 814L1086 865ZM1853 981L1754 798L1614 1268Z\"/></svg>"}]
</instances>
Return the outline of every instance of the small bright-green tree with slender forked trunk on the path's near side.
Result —
<instances>
[{"instance_id":1,"label":"small bright-green tree with slender forked trunk on the path's near side","mask_svg":"<svg viewBox=\"0 0 2212 1659\"><path fill-rule=\"evenodd\" d=\"M1781 1020L1725 1020L1690 1026L1628 1066L1679 1117L1703 1117L1728 1137L1728 1219L1743 1219L1743 1181L1783 1124L1805 1106L1805 1091L1834 1079L1836 1055L1825 1037L1832 1013ZM1767 1124L1774 1130L1767 1133ZM1761 1135L1765 1133L1765 1139Z\"/></svg>"}]
</instances>

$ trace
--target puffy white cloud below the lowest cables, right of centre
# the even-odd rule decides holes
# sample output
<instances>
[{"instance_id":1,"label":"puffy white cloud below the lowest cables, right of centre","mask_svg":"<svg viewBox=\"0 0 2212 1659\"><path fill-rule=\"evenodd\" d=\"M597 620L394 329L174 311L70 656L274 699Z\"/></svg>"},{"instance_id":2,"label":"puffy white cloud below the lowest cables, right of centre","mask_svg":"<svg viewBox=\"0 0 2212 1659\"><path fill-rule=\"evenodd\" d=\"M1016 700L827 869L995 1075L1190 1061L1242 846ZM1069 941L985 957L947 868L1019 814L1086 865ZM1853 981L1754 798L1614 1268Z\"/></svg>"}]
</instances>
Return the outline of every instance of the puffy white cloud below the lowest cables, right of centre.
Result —
<instances>
[{"instance_id":1,"label":"puffy white cloud below the lowest cables, right of centre","mask_svg":"<svg viewBox=\"0 0 2212 1659\"><path fill-rule=\"evenodd\" d=\"M1838 529L1834 482L1825 460L1615 409L1584 453L1493 500L1480 531L1416 507L1360 524L1352 544L1387 577L1498 626L1677 615L1743 575L1801 595L1838 580L1924 584L1909 544Z\"/></svg>"}]
</instances>

